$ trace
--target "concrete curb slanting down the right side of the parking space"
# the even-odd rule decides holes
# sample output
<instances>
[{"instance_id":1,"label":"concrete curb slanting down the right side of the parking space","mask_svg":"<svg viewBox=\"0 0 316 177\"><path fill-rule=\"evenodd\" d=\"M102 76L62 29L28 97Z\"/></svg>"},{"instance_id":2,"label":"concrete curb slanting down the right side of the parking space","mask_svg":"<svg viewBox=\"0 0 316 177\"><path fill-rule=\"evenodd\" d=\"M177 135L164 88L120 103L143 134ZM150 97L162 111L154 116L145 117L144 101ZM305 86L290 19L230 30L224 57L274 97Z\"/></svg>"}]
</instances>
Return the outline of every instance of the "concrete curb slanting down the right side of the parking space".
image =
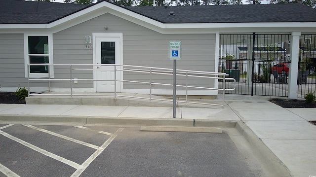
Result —
<instances>
[{"instance_id":1,"label":"concrete curb slanting down the right side of the parking space","mask_svg":"<svg viewBox=\"0 0 316 177\"><path fill-rule=\"evenodd\" d=\"M253 154L263 164L263 168L267 172L273 172L269 174L270 177L293 177L283 162L243 122L238 121L235 128L249 142L254 150Z\"/></svg>"}]
</instances>

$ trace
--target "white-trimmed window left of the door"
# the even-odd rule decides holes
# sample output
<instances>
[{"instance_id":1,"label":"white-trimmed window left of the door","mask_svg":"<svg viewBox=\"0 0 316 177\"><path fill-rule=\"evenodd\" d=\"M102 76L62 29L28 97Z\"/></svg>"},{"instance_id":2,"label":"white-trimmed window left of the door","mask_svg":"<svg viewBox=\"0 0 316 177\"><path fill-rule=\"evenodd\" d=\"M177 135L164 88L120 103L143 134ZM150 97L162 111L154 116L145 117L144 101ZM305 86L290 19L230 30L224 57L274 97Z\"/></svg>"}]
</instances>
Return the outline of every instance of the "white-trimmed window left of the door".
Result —
<instances>
[{"instance_id":1,"label":"white-trimmed window left of the door","mask_svg":"<svg viewBox=\"0 0 316 177\"><path fill-rule=\"evenodd\" d=\"M50 35L25 35L25 63L26 64L49 64L52 62L52 37ZM52 67L48 65L28 66L26 65L25 76L47 77L48 73L52 76Z\"/></svg>"}]
</instances>

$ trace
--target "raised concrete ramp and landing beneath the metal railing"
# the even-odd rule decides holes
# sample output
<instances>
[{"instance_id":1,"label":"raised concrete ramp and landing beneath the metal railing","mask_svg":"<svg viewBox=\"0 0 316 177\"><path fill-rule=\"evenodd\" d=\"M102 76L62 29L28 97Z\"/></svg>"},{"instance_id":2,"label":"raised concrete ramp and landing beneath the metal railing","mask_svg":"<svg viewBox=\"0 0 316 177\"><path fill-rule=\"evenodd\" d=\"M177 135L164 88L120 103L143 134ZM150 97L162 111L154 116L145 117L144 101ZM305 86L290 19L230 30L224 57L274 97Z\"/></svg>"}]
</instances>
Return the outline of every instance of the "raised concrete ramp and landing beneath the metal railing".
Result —
<instances>
[{"instance_id":1,"label":"raised concrete ramp and landing beneath the metal railing","mask_svg":"<svg viewBox=\"0 0 316 177\"><path fill-rule=\"evenodd\" d=\"M177 107L214 107L206 104L221 105L222 100L215 99L214 96L190 96L188 102L185 102L185 96L177 96ZM31 95L26 98L26 104L32 105L98 105L98 106L159 106L172 107L172 96L157 96L136 93L117 93L116 98L114 93L87 93L77 92L71 96L68 92L47 92L37 95Z\"/></svg>"}]
</instances>

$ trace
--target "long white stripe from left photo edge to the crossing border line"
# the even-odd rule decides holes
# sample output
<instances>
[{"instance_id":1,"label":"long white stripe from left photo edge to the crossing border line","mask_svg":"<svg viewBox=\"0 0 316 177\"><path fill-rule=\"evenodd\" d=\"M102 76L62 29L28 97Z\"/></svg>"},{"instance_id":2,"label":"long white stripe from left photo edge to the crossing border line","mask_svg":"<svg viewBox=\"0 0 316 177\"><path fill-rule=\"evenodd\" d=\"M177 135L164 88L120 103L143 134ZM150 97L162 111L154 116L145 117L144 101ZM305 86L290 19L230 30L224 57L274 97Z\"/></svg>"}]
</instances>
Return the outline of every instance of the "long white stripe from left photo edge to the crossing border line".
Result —
<instances>
[{"instance_id":1,"label":"long white stripe from left photo edge to the crossing border line","mask_svg":"<svg viewBox=\"0 0 316 177\"><path fill-rule=\"evenodd\" d=\"M73 162L73 161L70 161L70 160L65 159L63 157L60 157L58 155L55 155L55 154L53 154L51 152L48 152L48 151L46 151L44 149L41 149L41 148L37 147L37 146L35 146L35 145L31 144L31 143L28 143L28 142L20 140L20 139L18 139L16 137L13 137L12 135L9 135L9 134L1 131L1 130L0 130L0 134L5 136L5 137L7 137L7 138L9 138L9 139L11 139L11 140L13 140L13 141L15 141L15 142L19 142L20 144L25 145L25 146L27 146L27 147L35 150L35 151L38 151L38 152L42 153L43 155L51 157L51 158L53 158L55 160L58 160L60 162L63 162L64 164L67 164L67 165L69 165L69 166L71 166L71 167L73 167L75 169L79 169L80 168L80 165L77 164L76 162Z\"/></svg>"}]
</instances>

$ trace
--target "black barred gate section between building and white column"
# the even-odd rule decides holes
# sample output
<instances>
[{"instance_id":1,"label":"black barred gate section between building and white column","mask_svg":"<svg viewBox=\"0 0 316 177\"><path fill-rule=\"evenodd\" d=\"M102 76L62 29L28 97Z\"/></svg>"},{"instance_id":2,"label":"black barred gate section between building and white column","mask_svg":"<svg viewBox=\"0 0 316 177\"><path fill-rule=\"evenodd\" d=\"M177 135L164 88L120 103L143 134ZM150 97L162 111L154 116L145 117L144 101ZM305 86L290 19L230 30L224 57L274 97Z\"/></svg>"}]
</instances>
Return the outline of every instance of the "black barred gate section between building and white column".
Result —
<instances>
[{"instance_id":1,"label":"black barred gate section between building and white column","mask_svg":"<svg viewBox=\"0 0 316 177\"><path fill-rule=\"evenodd\" d=\"M220 35L219 70L237 81L231 94L287 96L289 34ZM226 83L230 88L231 82ZM219 82L219 88L223 82ZM227 93L227 92L226 92Z\"/></svg>"}]
</instances>

